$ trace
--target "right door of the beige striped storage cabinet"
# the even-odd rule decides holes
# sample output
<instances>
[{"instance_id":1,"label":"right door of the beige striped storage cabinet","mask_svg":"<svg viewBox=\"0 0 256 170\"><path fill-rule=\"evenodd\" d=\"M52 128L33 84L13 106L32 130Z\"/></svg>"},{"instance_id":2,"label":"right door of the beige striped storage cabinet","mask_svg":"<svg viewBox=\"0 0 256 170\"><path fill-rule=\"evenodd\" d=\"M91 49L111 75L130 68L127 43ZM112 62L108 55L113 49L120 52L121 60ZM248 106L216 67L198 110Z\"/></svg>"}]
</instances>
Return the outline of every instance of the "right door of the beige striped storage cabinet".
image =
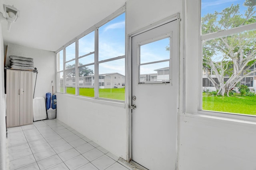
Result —
<instances>
[{"instance_id":1,"label":"right door of the beige striped storage cabinet","mask_svg":"<svg viewBox=\"0 0 256 170\"><path fill-rule=\"evenodd\" d=\"M20 125L33 123L33 72L20 72Z\"/></svg>"}]
</instances>

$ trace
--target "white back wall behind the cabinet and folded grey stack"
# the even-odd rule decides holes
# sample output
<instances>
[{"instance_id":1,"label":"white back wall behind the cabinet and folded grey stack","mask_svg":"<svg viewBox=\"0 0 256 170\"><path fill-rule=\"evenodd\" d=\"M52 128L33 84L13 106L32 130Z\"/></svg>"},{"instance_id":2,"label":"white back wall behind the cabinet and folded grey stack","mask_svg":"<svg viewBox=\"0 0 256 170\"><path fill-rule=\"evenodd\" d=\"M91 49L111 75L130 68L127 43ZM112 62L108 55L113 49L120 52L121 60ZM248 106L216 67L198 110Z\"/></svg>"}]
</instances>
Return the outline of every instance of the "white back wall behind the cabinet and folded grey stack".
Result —
<instances>
[{"instance_id":1,"label":"white back wall behind the cabinet and folded grey stack","mask_svg":"<svg viewBox=\"0 0 256 170\"><path fill-rule=\"evenodd\" d=\"M34 97L44 97L47 92L52 90L52 80L55 87L55 52L19 46L15 44L7 44L6 64L10 66L9 56L22 56L34 59L34 67L38 70L37 80L34 73L34 84L36 80L36 90ZM34 87L33 87L34 89ZM56 89L54 88L54 91Z\"/></svg>"}]
</instances>

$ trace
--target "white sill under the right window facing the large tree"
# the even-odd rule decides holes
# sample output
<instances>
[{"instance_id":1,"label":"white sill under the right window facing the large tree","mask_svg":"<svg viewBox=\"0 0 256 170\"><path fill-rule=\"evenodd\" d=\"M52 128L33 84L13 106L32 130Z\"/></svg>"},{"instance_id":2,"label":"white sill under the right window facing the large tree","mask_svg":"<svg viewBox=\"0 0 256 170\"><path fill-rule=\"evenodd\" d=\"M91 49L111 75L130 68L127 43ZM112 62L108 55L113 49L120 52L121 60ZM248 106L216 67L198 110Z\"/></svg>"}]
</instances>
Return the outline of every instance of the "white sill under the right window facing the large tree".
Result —
<instances>
[{"instance_id":1,"label":"white sill under the right window facing the large tree","mask_svg":"<svg viewBox=\"0 0 256 170\"><path fill-rule=\"evenodd\" d=\"M189 117L201 117L208 119L216 119L230 122L238 122L245 124L256 124L256 116L247 114L233 114L224 112L211 112L205 110L198 110L197 113L185 113L185 116Z\"/></svg>"}]
</instances>

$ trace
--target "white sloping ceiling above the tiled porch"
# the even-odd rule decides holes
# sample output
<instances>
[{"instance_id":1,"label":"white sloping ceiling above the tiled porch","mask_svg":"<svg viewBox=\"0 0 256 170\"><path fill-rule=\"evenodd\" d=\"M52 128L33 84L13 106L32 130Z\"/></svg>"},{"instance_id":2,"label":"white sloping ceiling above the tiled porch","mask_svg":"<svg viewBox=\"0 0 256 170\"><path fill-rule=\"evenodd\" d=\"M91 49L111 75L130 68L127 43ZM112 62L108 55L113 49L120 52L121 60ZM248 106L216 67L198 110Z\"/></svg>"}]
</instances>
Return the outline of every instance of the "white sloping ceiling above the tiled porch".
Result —
<instances>
[{"instance_id":1,"label":"white sloping ceiling above the tiled porch","mask_svg":"<svg viewBox=\"0 0 256 170\"><path fill-rule=\"evenodd\" d=\"M4 0L20 10L20 17L7 32L4 42L56 51L61 46L106 18L127 0Z\"/></svg>"}]
</instances>

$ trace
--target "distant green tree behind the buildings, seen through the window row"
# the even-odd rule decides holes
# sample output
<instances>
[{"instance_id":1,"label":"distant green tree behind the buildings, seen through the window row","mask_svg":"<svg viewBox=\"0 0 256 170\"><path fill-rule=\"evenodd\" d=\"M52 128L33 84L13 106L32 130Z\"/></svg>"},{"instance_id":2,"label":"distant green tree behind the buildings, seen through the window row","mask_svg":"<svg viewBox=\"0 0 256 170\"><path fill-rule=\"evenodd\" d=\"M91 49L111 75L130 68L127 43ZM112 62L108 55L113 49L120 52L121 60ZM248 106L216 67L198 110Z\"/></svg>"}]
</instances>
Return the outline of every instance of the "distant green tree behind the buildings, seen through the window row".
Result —
<instances>
[{"instance_id":1,"label":"distant green tree behind the buildings, seen through the window row","mask_svg":"<svg viewBox=\"0 0 256 170\"><path fill-rule=\"evenodd\" d=\"M79 63L79 66L82 66L82 63ZM75 75L75 64L67 64L66 66L66 69L70 69L70 68L73 68L71 70L67 70L66 71L66 75L68 78L74 78L76 77ZM92 69L86 67L86 66L82 66L82 67L79 67L78 68L78 74L79 74L79 77L82 77L82 76L92 76L94 75L94 72Z\"/></svg>"}]
</instances>

